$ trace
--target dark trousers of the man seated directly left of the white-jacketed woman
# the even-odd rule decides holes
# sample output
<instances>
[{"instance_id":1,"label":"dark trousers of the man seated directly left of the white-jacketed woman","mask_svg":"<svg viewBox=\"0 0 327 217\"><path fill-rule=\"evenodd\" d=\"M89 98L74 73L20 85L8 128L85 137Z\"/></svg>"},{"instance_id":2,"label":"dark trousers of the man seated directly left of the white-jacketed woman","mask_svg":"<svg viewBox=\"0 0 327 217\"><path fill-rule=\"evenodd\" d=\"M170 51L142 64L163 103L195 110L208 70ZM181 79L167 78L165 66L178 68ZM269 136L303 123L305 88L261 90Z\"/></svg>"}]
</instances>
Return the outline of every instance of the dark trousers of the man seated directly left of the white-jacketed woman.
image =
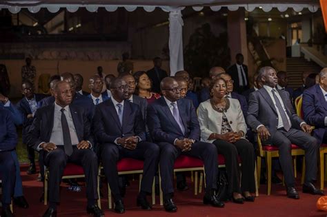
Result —
<instances>
[{"instance_id":1,"label":"dark trousers of the man seated directly left of the white-jacketed woman","mask_svg":"<svg viewBox=\"0 0 327 217\"><path fill-rule=\"evenodd\" d=\"M218 158L217 148L212 143L197 142L192 145L188 152L181 152L175 145L170 143L158 143L160 147L159 169L161 175L161 189L164 194L174 192L172 178L176 158L185 154L204 161L206 171L206 189L217 189Z\"/></svg>"}]
</instances>

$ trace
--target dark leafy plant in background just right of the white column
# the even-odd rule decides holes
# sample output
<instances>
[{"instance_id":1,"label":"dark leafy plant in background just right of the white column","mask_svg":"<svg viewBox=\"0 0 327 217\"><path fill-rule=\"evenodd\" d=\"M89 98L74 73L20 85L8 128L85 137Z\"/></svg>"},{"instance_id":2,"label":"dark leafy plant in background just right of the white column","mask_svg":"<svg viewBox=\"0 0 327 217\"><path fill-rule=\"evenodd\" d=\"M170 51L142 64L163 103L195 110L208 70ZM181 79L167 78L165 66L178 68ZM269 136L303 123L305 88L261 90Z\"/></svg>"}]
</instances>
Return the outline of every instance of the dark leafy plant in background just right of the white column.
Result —
<instances>
[{"instance_id":1,"label":"dark leafy plant in background just right of the white column","mask_svg":"<svg viewBox=\"0 0 327 217\"><path fill-rule=\"evenodd\" d=\"M217 37L211 32L209 23L197 28L184 48L184 68L192 76L204 77L213 66L228 68L229 65L227 32Z\"/></svg>"}]
</instances>

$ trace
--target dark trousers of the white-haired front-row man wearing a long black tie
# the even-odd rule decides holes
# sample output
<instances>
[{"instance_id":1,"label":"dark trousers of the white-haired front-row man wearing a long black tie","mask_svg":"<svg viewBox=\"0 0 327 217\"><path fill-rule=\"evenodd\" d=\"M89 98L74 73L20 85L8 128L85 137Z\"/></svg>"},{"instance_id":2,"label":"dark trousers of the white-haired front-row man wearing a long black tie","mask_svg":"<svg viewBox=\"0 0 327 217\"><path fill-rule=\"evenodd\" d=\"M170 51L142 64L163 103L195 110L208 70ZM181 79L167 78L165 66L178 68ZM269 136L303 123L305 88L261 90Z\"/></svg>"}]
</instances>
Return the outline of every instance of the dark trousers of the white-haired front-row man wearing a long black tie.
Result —
<instances>
[{"instance_id":1,"label":"dark trousers of the white-haired front-row man wearing a long black tie","mask_svg":"<svg viewBox=\"0 0 327 217\"><path fill-rule=\"evenodd\" d=\"M59 203L59 187L63 176L63 169L67 163L81 165L84 169L86 178L86 197L89 200L97 200L97 175L98 159L95 152L91 149L77 149L73 146L71 156L67 156L63 146L57 146L57 149L51 152L43 152L44 165L49 167L49 202Z\"/></svg>"}]
</instances>

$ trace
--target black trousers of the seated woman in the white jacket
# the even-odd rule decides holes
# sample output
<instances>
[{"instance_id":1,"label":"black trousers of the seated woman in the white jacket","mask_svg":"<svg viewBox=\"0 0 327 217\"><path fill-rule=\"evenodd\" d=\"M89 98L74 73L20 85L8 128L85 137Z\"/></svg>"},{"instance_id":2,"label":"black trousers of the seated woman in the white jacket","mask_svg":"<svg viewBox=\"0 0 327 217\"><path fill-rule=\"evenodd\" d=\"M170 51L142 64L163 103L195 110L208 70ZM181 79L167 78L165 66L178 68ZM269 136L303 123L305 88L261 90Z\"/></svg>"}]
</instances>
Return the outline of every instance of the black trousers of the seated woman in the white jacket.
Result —
<instances>
[{"instance_id":1,"label":"black trousers of the seated woman in the white jacket","mask_svg":"<svg viewBox=\"0 0 327 217\"><path fill-rule=\"evenodd\" d=\"M224 140L213 142L219 154L224 155L228 176L228 196L233 192L255 192L255 149L252 143L241 138L236 143ZM239 162L241 158L241 187L239 186Z\"/></svg>"}]
</instances>

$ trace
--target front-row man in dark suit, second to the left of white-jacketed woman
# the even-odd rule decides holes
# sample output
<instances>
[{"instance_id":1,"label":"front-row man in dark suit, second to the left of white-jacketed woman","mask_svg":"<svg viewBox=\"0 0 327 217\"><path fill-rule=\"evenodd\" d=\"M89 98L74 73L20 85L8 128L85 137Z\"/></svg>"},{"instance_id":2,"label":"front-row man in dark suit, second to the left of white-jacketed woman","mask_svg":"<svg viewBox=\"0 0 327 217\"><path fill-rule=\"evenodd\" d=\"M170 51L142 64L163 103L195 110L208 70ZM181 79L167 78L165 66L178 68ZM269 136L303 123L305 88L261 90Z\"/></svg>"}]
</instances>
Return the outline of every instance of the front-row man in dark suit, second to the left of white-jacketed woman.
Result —
<instances>
[{"instance_id":1,"label":"front-row man in dark suit, second to the left of white-jacketed woman","mask_svg":"<svg viewBox=\"0 0 327 217\"><path fill-rule=\"evenodd\" d=\"M115 200L115 211L125 212L119 192L117 161L128 157L144 160L141 191L137 205L142 209L152 209L146 194L152 192L159 147L146 141L146 127L139 105L130 103L128 85L121 79L112 79L112 97L95 107L93 120L97 141L101 143L101 160Z\"/></svg>"}]
</instances>

